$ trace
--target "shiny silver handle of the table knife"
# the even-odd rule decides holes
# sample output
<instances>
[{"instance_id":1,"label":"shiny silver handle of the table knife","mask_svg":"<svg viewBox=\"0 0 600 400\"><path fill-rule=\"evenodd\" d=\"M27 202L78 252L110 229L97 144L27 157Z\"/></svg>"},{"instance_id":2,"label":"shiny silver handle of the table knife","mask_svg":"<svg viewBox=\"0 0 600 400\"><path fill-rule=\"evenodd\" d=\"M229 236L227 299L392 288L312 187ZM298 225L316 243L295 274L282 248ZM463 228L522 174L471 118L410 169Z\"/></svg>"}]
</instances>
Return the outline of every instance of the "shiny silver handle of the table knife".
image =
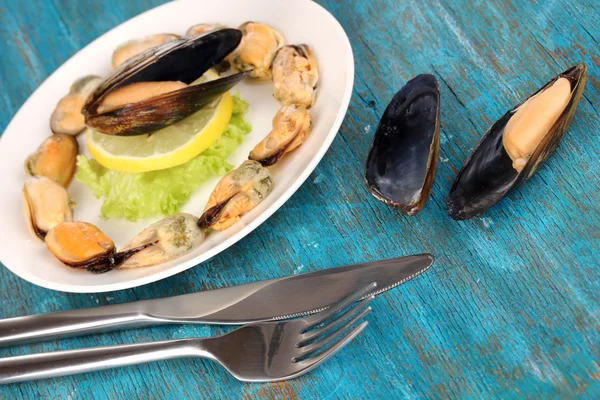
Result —
<instances>
[{"instance_id":1,"label":"shiny silver handle of the table knife","mask_svg":"<svg viewBox=\"0 0 600 400\"><path fill-rule=\"evenodd\" d=\"M176 323L153 316L153 300L0 320L0 347L120 329Z\"/></svg>"}]
</instances>

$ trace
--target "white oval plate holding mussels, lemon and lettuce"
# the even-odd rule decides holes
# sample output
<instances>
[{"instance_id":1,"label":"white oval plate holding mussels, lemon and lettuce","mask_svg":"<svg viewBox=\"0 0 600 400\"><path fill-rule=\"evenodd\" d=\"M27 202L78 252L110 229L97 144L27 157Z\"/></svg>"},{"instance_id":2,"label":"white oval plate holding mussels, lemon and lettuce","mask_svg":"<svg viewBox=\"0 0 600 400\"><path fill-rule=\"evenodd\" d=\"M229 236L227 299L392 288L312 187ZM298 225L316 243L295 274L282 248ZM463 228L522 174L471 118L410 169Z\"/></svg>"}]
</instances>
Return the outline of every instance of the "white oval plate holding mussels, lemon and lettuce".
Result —
<instances>
[{"instance_id":1,"label":"white oval plate holding mussels, lemon and lettuce","mask_svg":"<svg viewBox=\"0 0 600 400\"><path fill-rule=\"evenodd\" d=\"M236 225L223 232L213 232L196 251L169 263L92 275L58 262L46 246L28 231L22 212L21 190L26 178L23 162L51 134L48 121L59 98L67 93L71 83L79 76L106 76L112 51L125 40L154 33L183 35L189 26L201 22L220 22L235 27L249 20L272 25L288 43L313 46L320 72L317 101L311 110L313 130L302 147L288 154L272 169L275 185L271 195ZM131 288L200 264L256 229L306 180L342 124L353 82L354 58L348 37L329 12L310 0L179 0L132 18L89 44L54 72L23 104L2 135L0 182L4 201L0 207L0 220L4 233L0 240L0 260L12 272L36 285L78 293ZM271 120L278 109L270 83L243 82L233 89L236 90L250 103L247 119L253 130L229 158L232 165L239 165L246 159L252 147L270 131ZM79 143L85 149L81 136ZM218 179L204 183L182 211L200 215ZM117 247L160 219L137 223L105 221L99 218L101 202L88 188L73 180L69 193L77 203L76 219L100 227Z\"/></svg>"}]
</instances>

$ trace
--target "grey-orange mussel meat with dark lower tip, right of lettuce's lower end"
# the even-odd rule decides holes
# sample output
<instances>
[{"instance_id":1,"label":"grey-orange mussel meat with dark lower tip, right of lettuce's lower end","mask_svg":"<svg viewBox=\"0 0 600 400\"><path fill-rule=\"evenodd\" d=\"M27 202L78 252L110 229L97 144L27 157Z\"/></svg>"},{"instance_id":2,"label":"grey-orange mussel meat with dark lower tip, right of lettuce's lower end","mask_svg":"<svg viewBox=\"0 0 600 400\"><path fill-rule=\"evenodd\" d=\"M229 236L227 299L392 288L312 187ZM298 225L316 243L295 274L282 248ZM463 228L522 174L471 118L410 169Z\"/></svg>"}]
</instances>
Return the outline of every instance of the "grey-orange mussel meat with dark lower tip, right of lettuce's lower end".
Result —
<instances>
[{"instance_id":1,"label":"grey-orange mussel meat with dark lower tip, right of lettuce's lower end","mask_svg":"<svg viewBox=\"0 0 600 400\"><path fill-rule=\"evenodd\" d=\"M227 229L263 201L272 189L269 171L256 161L244 161L217 183L198 226L218 231Z\"/></svg>"}]
</instances>

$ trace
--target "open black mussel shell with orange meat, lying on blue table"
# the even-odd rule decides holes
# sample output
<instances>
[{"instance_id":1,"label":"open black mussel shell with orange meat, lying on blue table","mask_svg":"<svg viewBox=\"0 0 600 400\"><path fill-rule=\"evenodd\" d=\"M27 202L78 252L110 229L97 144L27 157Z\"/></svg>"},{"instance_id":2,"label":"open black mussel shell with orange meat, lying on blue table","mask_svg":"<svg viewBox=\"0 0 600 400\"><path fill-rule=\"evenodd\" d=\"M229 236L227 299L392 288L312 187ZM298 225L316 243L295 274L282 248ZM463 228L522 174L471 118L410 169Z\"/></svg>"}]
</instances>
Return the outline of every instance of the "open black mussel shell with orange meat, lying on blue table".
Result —
<instances>
[{"instance_id":1,"label":"open black mussel shell with orange meat, lying on blue table","mask_svg":"<svg viewBox=\"0 0 600 400\"><path fill-rule=\"evenodd\" d=\"M452 218L482 214L537 171L575 115L586 72L585 64L564 71L492 125L452 185L447 199Z\"/></svg>"}]
</instances>

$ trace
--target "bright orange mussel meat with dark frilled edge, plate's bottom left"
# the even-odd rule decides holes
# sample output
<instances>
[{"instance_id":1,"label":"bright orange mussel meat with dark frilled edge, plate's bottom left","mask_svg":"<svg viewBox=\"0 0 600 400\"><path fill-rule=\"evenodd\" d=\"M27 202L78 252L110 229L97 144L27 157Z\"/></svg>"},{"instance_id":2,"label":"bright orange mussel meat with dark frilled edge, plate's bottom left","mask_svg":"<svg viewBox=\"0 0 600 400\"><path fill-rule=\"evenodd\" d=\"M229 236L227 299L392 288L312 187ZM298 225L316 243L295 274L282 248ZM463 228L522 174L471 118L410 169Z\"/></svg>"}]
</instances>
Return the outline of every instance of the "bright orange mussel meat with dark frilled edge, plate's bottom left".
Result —
<instances>
[{"instance_id":1,"label":"bright orange mussel meat with dark frilled edge, plate's bottom left","mask_svg":"<svg viewBox=\"0 0 600 400\"><path fill-rule=\"evenodd\" d=\"M116 268L127 258L155 244L146 243L117 253L113 241L87 222L63 222L52 228L44 241L48 250L63 264L96 274Z\"/></svg>"}]
</instances>

